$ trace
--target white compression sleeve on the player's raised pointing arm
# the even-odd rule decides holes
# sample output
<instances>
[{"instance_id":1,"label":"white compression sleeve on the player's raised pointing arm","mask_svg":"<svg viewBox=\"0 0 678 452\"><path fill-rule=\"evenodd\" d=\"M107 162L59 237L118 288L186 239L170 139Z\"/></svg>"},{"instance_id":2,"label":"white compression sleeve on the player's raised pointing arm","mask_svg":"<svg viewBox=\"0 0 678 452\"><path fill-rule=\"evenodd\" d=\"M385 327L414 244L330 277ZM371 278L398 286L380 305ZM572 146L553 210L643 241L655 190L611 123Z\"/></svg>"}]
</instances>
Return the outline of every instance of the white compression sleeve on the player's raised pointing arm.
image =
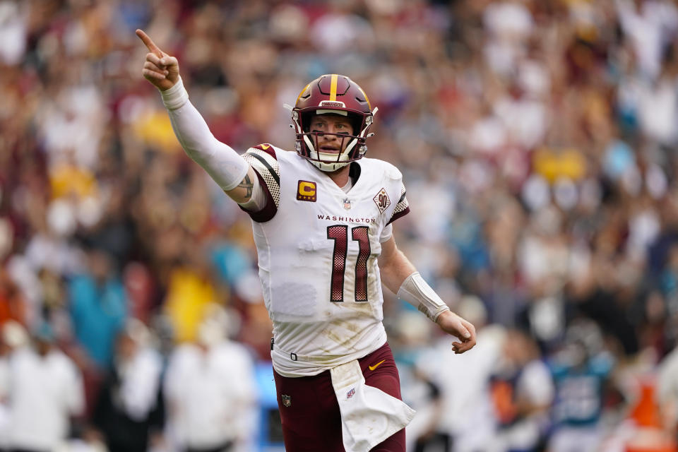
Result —
<instances>
[{"instance_id":1,"label":"white compression sleeve on the player's raised pointing arm","mask_svg":"<svg viewBox=\"0 0 678 452\"><path fill-rule=\"evenodd\" d=\"M224 190L229 191L242 182L249 165L229 145L210 132L205 119L189 101L182 79L160 91L162 102L169 112L172 129L186 154L203 167ZM261 186L258 186L261 191ZM254 196L254 195L253 195Z\"/></svg>"}]
</instances>

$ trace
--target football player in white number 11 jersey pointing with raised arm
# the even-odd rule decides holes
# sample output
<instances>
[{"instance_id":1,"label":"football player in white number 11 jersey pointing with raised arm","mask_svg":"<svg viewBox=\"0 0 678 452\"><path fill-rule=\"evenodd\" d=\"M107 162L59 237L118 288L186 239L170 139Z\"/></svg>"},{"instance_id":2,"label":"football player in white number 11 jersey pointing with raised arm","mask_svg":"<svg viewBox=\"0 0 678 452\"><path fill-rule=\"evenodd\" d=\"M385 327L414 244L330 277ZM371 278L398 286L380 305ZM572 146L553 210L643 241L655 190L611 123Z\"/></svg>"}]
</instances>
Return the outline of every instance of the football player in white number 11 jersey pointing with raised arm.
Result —
<instances>
[{"instance_id":1,"label":"football player in white number 11 jersey pointing with raised arm","mask_svg":"<svg viewBox=\"0 0 678 452\"><path fill-rule=\"evenodd\" d=\"M400 400L381 283L456 336L457 353L475 328L396 246L391 223L410 210L402 174L364 158L376 107L350 78L321 76L291 108L296 152L260 144L240 156L191 105L177 59L136 33L179 143L251 217L285 447L405 451L414 412Z\"/></svg>"}]
</instances>

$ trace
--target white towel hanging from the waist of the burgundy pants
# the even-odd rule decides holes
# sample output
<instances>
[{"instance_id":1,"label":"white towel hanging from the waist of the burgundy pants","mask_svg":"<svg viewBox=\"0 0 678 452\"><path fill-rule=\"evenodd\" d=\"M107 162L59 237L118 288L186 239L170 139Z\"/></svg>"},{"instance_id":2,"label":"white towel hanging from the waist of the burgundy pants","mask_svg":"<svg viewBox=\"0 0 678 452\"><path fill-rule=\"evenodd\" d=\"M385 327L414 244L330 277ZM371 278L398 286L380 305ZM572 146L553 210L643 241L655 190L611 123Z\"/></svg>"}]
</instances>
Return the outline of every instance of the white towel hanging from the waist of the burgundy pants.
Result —
<instances>
[{"instance_id":1,"label":"white towel hanging from the waist of the burgundy pants","mask_svg":"<svg viewBox=\"0 0 678 452\"><path fill-rule=\"evenodd\" d=\"M357 359L331 369L346 452L367 452L415 417L402 400L367 386Z\"/></svg>"}]
</instances>

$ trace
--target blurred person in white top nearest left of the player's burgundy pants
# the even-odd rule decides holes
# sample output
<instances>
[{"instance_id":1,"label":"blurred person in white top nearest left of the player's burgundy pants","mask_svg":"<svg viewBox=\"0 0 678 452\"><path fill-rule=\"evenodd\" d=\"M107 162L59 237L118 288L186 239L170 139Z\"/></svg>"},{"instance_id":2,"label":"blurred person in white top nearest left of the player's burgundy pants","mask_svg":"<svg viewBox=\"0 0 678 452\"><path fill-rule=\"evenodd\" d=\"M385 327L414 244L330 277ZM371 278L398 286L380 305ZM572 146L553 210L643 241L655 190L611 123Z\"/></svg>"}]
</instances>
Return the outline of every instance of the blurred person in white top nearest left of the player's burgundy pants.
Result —
<instances>
[{"instance_id":1,"label":"blurred person in white top nearest left of the player's burgundy pants","mask_svg":"<svg viewBox=\"0 0 678 452\"><path fill-rule=\"evenodd\" d=\"M249 352L228 340L229 318L206 307L195 341L169 357L165 375L167 441L174 451L251 450L256 417L254 367Z\"/></svg>"}]
</instances>

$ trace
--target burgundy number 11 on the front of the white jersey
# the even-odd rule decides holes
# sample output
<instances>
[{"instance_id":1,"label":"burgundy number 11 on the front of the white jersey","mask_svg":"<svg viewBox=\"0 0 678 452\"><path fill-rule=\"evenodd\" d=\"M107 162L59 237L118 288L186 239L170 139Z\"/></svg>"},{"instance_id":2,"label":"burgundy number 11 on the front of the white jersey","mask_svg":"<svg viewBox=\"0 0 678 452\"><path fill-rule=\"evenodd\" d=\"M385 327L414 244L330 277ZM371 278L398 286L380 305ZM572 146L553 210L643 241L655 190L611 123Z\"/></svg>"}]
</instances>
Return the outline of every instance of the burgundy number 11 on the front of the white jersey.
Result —
<instances>
[{"instance_id":1,"label":"burgundy number 11 on the front of the white jersey","mask_svg":"<svg viewBox=\"0 0 678 452\"><path fill-rule=\"evenodd\" d=\"M355 301L367 302L367 258L371 252L369 246L369 228L356 226L351 228L351 237L358 242L358 256L355 260ZM334 240L332 254L332 285L330 300L344 301L344 281L348 249L348 226L334 225L327 227L327 238Z\"/></svg>"}]
</instances>

